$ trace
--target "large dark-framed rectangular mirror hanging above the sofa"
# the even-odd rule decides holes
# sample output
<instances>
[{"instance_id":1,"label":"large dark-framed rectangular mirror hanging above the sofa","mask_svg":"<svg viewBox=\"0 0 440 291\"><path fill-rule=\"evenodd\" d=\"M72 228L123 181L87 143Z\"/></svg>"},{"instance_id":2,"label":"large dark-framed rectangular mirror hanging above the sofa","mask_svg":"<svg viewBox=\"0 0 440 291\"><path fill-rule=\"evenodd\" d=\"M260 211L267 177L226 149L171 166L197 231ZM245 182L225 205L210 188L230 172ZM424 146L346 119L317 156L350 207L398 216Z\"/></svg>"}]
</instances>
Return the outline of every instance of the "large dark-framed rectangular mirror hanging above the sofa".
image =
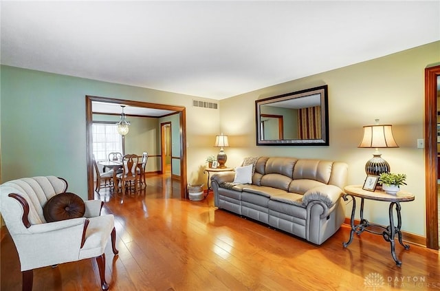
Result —
<instances>
[{"instance_id":1,"label":"large dark-framed rectangular mirror hanging above the sofa","mask_svg":"<svg viewBox=\"0 0 440 291\"><path fill-rule=\"evenodd\" d=\"M327 85L255 101L256 145L329 145Z\"/></svg>"}]
</instances>

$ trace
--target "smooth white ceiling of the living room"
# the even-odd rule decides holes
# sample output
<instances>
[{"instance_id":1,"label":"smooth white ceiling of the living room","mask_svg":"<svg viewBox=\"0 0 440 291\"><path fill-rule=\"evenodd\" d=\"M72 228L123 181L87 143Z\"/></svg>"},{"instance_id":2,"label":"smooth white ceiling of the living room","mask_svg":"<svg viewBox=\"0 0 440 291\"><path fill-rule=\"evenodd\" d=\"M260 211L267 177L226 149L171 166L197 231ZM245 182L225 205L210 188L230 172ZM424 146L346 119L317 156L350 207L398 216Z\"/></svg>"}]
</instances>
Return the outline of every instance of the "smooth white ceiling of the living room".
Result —
<instances>
[{"instance_id":1,"label":"smooth white ceiling of the living room","mask_svg":"<svg viewBox=\"0 0 440 291\"><path fill-rule=\"evenodd\" d=\"M1 1L1 64L222 99L440 40L440 1Z\"/></svg>"}]
</instances>

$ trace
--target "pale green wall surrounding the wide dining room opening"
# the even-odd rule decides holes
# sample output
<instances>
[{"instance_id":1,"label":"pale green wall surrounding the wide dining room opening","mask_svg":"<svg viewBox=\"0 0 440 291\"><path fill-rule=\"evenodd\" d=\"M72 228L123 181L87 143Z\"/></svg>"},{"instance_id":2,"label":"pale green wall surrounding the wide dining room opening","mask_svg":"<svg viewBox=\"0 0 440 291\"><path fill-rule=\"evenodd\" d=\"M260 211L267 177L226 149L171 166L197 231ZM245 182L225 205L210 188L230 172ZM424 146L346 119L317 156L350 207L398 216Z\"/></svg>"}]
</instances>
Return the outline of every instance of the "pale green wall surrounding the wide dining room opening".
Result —
<instances>
[{"instance_id":1,"label":"pale green wall surrounding the wide dining room opening","mask_svg":"<svg viewBox=\"0 0 440 291\"><path fill-rule=\"evenodd\" d=\"M194 96L4 65L0 80L2 182L56 175L67 179L69 191L87 198L86 95L186 107L188 181L206 179L200 167L212 145L208 138L200 138L199 130L209 138L215 136L219 110L192 107ZM208 117L210 122L197 127L199 118Z\"/></svg>"}]
</instances>

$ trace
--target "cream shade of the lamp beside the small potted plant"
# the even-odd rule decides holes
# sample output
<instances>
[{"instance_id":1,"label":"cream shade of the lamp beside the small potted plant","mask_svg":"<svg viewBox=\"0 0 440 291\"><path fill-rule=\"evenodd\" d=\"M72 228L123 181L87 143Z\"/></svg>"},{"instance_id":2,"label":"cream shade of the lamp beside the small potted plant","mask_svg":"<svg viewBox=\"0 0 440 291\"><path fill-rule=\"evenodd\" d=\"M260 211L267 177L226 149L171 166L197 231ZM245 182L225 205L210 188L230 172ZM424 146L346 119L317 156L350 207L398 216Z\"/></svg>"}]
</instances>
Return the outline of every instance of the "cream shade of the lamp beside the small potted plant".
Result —
<instances>
[{"instance_id":1,"label":"cream shade of the lamp beside the small potted plant","mask_svg":"<svg viewBox=\"0 0 440 291\"><path fill-rule=\"evenodd\" d=\"M366 125L364 136L358 147L386 148L399 147L394 140L391 125Z\"/></svg>"}]
</instances>

